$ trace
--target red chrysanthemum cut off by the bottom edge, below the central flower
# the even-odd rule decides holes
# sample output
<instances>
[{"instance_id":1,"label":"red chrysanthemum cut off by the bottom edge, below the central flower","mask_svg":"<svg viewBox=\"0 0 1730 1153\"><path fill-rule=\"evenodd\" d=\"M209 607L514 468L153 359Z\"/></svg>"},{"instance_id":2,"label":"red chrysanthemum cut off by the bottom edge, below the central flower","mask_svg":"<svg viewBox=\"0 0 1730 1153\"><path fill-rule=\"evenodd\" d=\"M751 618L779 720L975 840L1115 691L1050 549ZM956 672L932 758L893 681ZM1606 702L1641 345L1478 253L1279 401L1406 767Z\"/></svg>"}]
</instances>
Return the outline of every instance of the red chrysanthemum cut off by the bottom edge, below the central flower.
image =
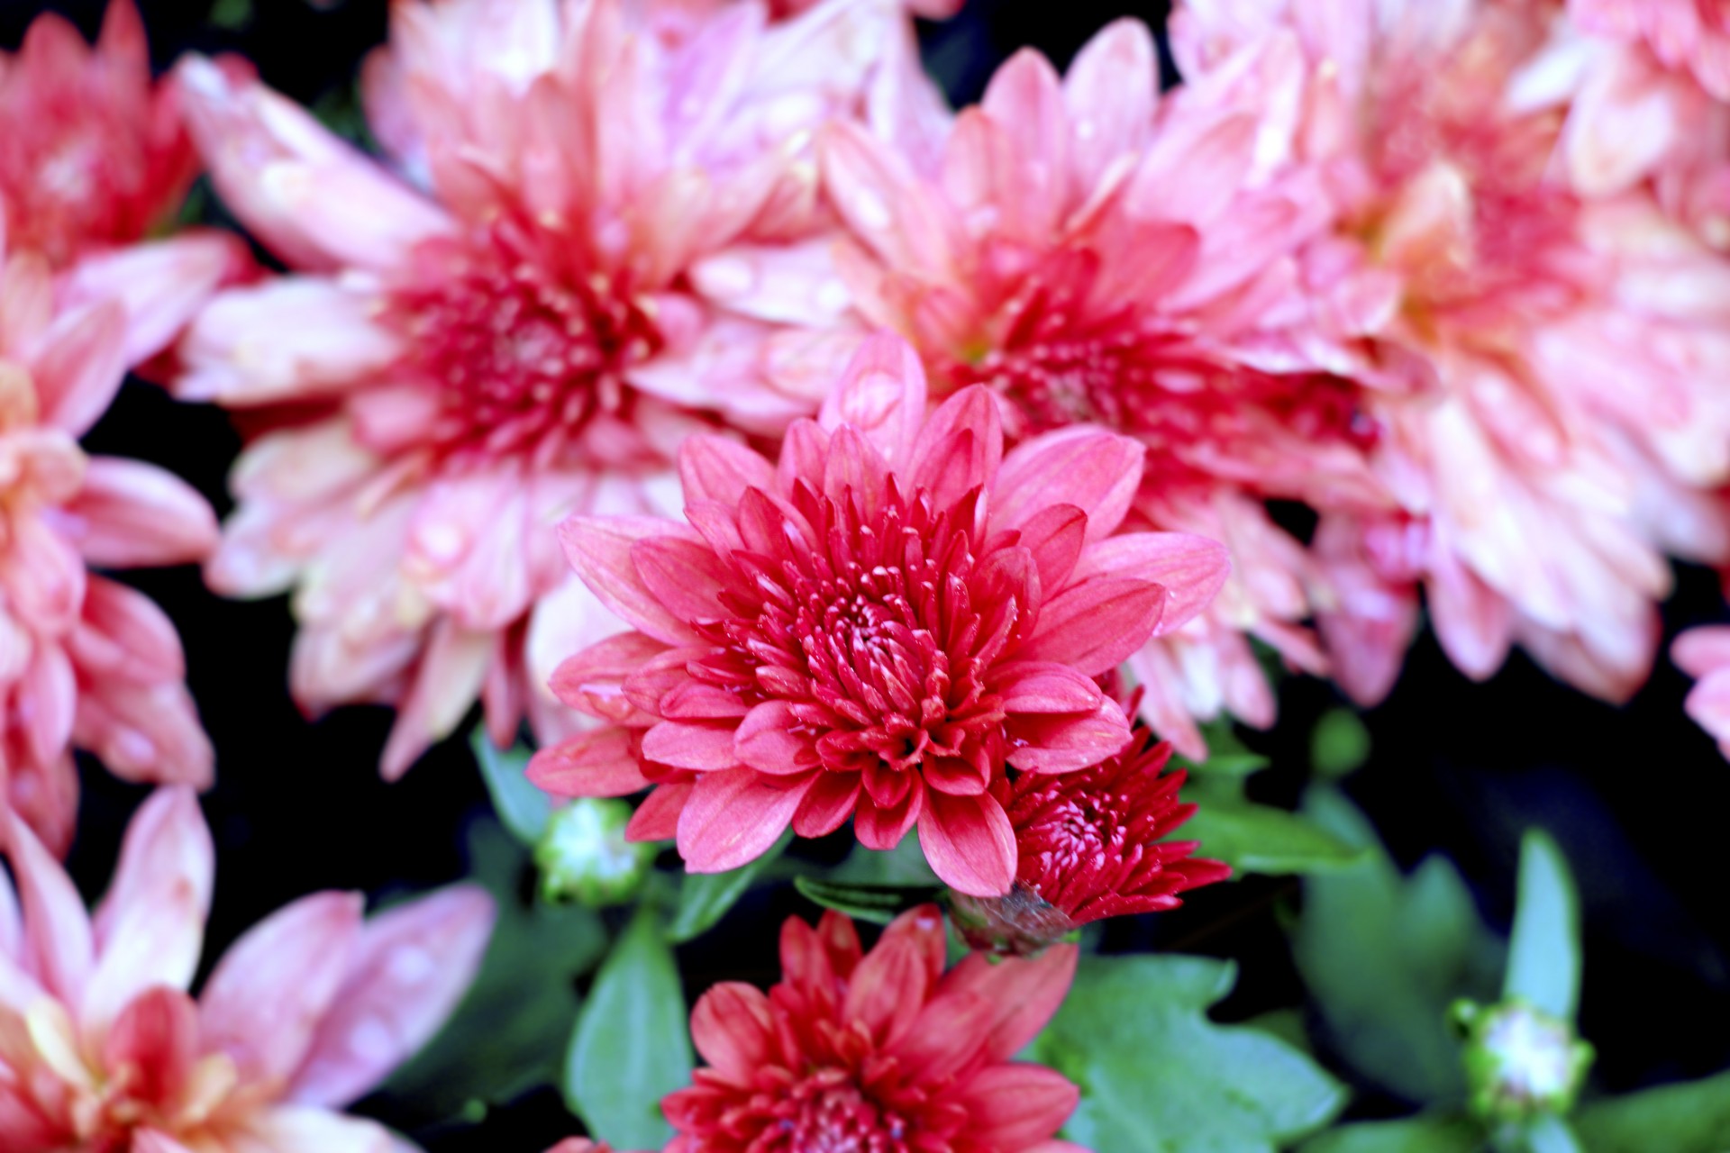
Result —
<instances>
[{"instance_id":1,"label":"red chrysanthemum cut off by the bottom edge, below the central flower","mask_svg":"<svg viewBox=\"0 0 1730 1153\"><path fill-rule=\"evenodd\" d=\"M1057 1011L1076 949L972 954L943 971L943 914L903 913L870 952L853 923L789 918L782 980L723 984L690 1015L708 1061L663 1101L668 1153L1085 1153L1052 1134L1080 1092L1010 1058Z\"/></svg>"}]
</instances>

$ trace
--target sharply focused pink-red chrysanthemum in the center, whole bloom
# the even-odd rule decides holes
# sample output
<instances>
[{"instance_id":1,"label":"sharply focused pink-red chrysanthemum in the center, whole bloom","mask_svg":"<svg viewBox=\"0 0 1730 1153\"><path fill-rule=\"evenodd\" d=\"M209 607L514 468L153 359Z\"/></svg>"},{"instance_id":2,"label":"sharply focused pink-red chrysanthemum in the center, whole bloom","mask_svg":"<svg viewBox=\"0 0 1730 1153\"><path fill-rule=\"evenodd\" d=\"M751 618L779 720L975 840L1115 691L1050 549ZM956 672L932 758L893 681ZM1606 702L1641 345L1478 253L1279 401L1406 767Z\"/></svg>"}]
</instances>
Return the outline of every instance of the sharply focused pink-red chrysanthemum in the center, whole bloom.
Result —
<instances>
[{"instance_id":1,"label":"sharply focused pink-red chrysanthemum in the center, whole bloom","mask_svg":"<svg viewBox=\"0 0 1730 1153\"><path fill-rule=\"evenodd\" d=\"M1142 446L1090 427L1003 455L998 405L964 389L929 417L913 351L881 335L820 422L770 463L697 436L685 517L574 517L566 555L637 631L571 657L554 688L621 726L536 755L564 795L659 785L633 838L730 870L791 823L853 818L891 849L915 823L948 885L1000 895L1016 838L1005 771L1099 764L1130 738L1092 678L1202 610L1225 550L1112 538Z\"/></svg>"}]
</instances>

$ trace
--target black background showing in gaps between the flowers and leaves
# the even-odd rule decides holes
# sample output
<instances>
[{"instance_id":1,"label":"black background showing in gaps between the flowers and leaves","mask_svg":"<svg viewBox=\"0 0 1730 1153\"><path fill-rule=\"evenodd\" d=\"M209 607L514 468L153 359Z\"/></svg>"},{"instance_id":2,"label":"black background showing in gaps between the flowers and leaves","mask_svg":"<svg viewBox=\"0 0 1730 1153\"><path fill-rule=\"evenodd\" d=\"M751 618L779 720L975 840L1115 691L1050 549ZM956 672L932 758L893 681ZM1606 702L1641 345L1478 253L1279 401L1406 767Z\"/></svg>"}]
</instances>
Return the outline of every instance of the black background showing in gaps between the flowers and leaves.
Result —
<instances>
[{"instance_id":1,"label":"black background showing in gaps between the flowers and leaves","mask_svg":"<svg viewBox=\"0 0 1730 1153\"><path fill-rule=\"evenodd\" d=\"M0 2L0 47L12 48L45 5ZM47 5L86 35L100 3ZM303 0L256 5L140 3L156 64L183 50L234 50L287 95L341 114L353 104L360 57L384 38L382 0L315 9ZM1035 45L1059 66L1116 16L1159 19L1163 5L1073 0L1062 5L974 0L962 17L926 29L927 59L952 97L972 100L1012 50ZM92 451L163 463L227 512L225 472L239 449L228 418L178 406L130 382L86 439ZM218 844L218 880L206 956L275 908L318 889L386 894L464 875L462 830L488 811L469 752L434 748L398 785L381 783L382 709L306 719L285 690L292 621L282 598L235 603L208 593L192 569L126 574L175 619L189 681L218 752L218 785L204 811ZM1721 619L1718 581L1678 570L1666 638ZM1687 681L1661 660L1623 709L1554 683L1524 657L1486 685L1451 669L1432 640L1413 650L1391 700L1365 716L1372 755L1348 792L1372 814L1405 866L1450 856L1479 908L1505 928L1519 835L1545 825L1567 850L1585 895L1583 1034L1595 1042L1595 1084L1626 1091L1730 1065L1730 902L1723 892L1730 766L1682 714ZM1322 683L1287 679L1277 731L1247 735L1273 757L1254 781L1265 800L1296 799L1315 719L1339 704ZM71 870L86 895L107 882L118 838L144 790L83 764L85 807ZM1237 994L1221 1016L1299 1004L1303 991L1278 927L1298 885L1249 878L1194 894L1161 918L1114 923L1112 949L1185 949L1235 958ZM791 889L749 897L720 928L682 951L692 994L723 977L773 980L773 940L789 913L810 914ZM1372 1094L1360 1113L1393 1108ZM386 1112L388 1117L388 1112ZM417 1134L431 1153L540 1150L576 1132L552 1091L493 1113L477 1127Z\"/></svg>"}]
</instances>

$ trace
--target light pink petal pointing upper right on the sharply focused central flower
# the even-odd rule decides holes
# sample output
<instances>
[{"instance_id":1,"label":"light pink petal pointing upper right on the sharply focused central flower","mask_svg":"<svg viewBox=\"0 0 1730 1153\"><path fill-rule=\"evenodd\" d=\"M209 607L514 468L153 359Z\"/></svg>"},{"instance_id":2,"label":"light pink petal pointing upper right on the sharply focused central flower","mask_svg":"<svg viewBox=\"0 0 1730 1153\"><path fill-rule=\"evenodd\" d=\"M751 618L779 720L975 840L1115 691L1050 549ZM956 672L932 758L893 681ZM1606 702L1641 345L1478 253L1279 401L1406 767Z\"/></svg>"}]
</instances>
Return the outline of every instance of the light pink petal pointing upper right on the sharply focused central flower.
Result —
<instances>
[{"instance_id":1,"label":"light pink petal pointing upper right on the sharply focused central flower","mask_svg":"<svg viewBox=\"0 0 1730 1153\"><path fill-rule=\"evenodd\" d=\"M1086 539L1111 536L1142 484L1142 455L1135 441L1074 427L1022 443L1003 458L991 493L991 529L1019 529L1052 505L1086 512Z\"/></svg>"}]
</instances>

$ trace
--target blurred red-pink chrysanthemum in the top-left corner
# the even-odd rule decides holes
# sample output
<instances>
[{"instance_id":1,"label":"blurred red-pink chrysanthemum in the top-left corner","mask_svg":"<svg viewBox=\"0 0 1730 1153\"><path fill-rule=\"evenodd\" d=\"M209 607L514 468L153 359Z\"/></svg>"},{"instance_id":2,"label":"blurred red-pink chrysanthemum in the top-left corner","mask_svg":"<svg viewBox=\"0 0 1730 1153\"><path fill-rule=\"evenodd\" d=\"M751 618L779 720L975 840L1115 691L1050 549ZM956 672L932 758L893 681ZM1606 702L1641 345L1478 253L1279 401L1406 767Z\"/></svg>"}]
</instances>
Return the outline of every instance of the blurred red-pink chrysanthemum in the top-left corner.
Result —
<instances>
[{"instance_id":1,"label":"blurred red-pink chrysanthemum in the top-left corner","mask_svg":"<svg viewBox=\"0 0 1730 1153\"><path fill-rule=\"evenodd\" d=\"M55 14L0 52L0 204L14 247L55 268L131 244L171 216L197 175L173 81L151 83L131 0L109 0L92 52Z\"/></svg>"}]
</instances>

